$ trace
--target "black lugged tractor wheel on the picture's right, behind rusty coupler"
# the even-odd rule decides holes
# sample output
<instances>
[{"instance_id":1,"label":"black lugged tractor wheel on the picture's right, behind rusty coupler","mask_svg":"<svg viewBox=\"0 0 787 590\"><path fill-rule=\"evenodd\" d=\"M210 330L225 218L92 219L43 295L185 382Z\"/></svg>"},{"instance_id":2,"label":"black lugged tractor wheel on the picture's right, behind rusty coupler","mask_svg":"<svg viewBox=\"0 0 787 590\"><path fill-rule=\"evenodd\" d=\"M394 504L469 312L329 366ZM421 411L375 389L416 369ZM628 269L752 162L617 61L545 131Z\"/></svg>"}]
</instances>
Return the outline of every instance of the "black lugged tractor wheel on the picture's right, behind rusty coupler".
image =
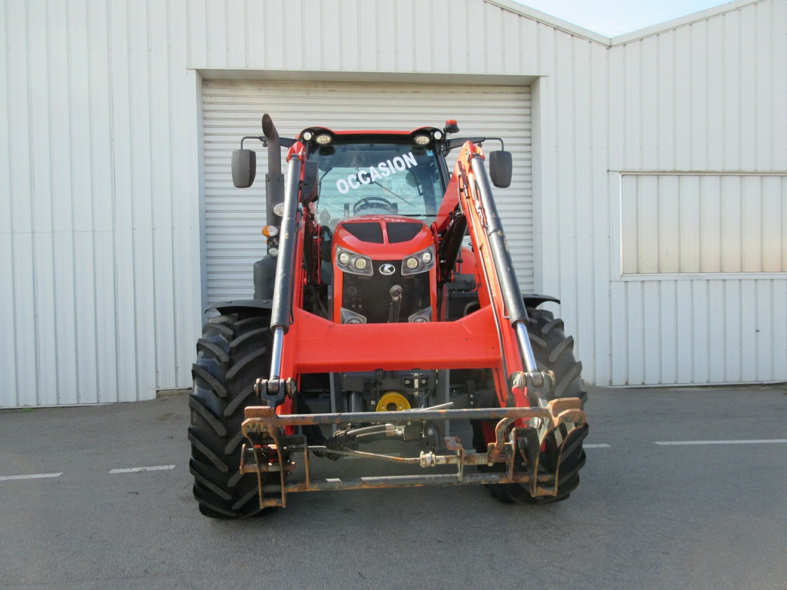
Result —
<instances>
[{"instance_id":1,"label":"black lugged tractor wheel on the picture's right, behind rusty coupler","mask_svg":"<svg viewBox=\"0 0 787 590\"><path fill-rule=\"evenodd\" d=\"M528 308L530 317L527 331L530 334L530 345L536 357L536 362L541 370L553 371L555 385L548 394L549 400L559 397L578 397L584 406L587 393L582 390L579 374L582 372L582 363L574 358L574 338L563 333L563 320L555 319L552 312L544 309ZM497 396L492 396L497 401ZM475 421L473 424L473 442L476 452L486 452L488 441L483 437L482 425ZM523 503L554 503L566 500L577 485L579 485L579 470L585 464L585 451L582 449L582 440L587 436L588 427L583 426L571 436L567 442L563 457L560 461L560 481L558 482L557 496L530 496L527 489L520 484L494 484L486 486L493 497L504 503L515 501ZM546 440L545 451L541 452L541 469L548 468L554 471L557 467L557 443L554 433L549 434ZM502 466L494 466L500 468ZM493 468L494 468L493 467Z\"/></svg>"}]
</instances>

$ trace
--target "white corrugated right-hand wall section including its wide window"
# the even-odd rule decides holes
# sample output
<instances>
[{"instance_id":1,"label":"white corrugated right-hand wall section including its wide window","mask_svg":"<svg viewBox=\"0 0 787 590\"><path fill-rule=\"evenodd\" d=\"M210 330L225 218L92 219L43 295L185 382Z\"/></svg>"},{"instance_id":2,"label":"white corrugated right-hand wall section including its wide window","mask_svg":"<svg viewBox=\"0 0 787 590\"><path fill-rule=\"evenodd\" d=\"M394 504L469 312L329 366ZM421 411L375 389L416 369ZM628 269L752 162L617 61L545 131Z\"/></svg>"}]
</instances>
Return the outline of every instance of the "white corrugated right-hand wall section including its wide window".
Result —
<instances>
[{"instance_id":1,"label":"white corrugated right-hand wall section including its wide window","mask_svg":"<svg viewBox=\"0 0 787 590\"><path fill-rule=\"evenodd\" d=\"M787 271L785 39L787 3L766 0L609 50L613 311L597 383L787 379L787 275L762 274ZM620 194L615 171L657 175L623 175ZM624 272L662 274L619 278L618 240Z\"/></svg>"}]
</instances>

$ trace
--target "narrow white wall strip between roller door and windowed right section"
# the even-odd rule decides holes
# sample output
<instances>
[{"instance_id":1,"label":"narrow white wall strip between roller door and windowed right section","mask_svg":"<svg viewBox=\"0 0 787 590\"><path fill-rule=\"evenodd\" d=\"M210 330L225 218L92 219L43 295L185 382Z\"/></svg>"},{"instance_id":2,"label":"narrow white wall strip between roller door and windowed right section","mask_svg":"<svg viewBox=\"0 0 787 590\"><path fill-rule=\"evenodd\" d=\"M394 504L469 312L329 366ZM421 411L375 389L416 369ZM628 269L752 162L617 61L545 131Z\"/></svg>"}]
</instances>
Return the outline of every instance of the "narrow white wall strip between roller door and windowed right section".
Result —
<instances>
[{"instance_id":1,"label":"narrow white wall strip between roller door and windowed right section","mask_svg":"<svg viewBox=\"0 0 787 590\"><path fill-rule=\"evenodd\" d=\"M535 36L538 71L551 72L531 86L534 101L538 95L538 109L533 109L534 136L538 131L533 148L535 258L540 265L535 289L560 297L560 306L544 307L562 317L567 334L574 336L583 378L605 383L614 307L608 128L618 122L610 106L609 88L615 86L608 48L541 23L535 25Z\"/></svg>"}]
</instances>

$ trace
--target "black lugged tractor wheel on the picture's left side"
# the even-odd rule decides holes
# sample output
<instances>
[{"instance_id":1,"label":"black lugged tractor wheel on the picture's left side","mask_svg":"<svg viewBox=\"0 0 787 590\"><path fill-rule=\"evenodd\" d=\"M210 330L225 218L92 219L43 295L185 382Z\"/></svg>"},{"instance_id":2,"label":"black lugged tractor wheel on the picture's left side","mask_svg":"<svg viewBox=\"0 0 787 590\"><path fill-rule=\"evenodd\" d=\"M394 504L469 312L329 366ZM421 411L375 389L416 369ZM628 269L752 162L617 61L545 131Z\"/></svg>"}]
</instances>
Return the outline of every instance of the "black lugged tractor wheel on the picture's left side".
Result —
<instances>
[{"instance_id":1,"label":"black lugged tractor wheel on the picture's left side","mask_svg":"<svg viewBox=\"0 0 787 590\"><path fill-rule=\"evenodd\" d=\"M269 326L264 315L219 315L205 324L197 341L189 466L199 510L211 518L261 512L257 476L242 474L239 466L243 411L255 403L254 383L267 376L271 363Z\"/></svg>"}]
</instances>

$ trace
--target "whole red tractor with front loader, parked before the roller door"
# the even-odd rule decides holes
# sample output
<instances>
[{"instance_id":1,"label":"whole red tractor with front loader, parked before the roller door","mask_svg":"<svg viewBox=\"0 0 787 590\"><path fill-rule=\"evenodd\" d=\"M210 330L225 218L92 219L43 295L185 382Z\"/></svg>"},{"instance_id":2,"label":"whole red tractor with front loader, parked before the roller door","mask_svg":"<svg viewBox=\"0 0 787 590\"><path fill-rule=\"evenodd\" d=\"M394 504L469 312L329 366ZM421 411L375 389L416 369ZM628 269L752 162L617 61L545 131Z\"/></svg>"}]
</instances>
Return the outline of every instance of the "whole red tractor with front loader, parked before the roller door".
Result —
<instances>
[{"instance_id":1,"label":"whole red tractor with front loader, parked before the roller door","mask_svg":"<svg viewBox=\"0 0 787 590\"><path fill-rule=\"evenodd\" d=\"M285 506L290 492L411 485L567 498L585 463L582 367L560 319L537 309L557 300L519 290L492 196L511 183L511 154L481 149L502 140L450 137L456 121L280 138L265 115L262 129L252 138L268 148L268 255L254 265L253 300L211 306L220 315L193 367L202 514L242 518ZM247 139L232 154L239 188L256 171ZM330 411L313 413L320 404ZM449 428L471 432L471 446ZM411 452L388 452L383 439ZM397 467L315 477L316 459L345 458Z\"/></svg>"}]
</instances>

